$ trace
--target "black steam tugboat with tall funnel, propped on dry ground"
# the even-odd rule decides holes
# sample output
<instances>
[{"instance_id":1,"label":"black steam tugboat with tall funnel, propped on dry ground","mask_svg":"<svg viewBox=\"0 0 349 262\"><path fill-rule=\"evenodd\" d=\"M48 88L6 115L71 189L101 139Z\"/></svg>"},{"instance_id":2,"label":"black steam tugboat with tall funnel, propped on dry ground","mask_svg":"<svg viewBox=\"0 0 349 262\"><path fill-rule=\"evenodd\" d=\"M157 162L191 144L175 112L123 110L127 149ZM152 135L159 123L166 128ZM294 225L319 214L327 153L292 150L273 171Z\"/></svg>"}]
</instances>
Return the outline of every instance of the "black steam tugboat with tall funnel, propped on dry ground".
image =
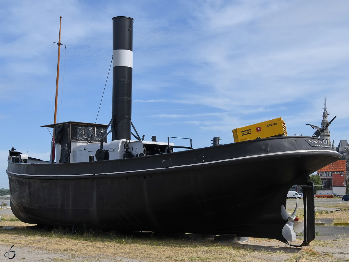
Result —
<instances>
[{"instance_id":1,"label":"black steam tugboat with tall funnel, propped on dry ground","mask_svg":"<svg viewBox=\"0 0 349 262\"><path fill-rule=\"evenodd\" d=\"M319 138L303 136L226 145L216 138L213 146L191 145L179 152L173 148L183 147L170 143L171 137L167 143L156 137L144 141L144 136L131 133L133 19L117 16L112 21L111 121L46 125L54 128L50 162L12 148L7 174L15 216L25 223L72 231L93 227L229 234L293 245L297 219L285 214L284 207L289 188L298 184L303 187L305 217L300 246L312 241L314 185L309 174L341 155ZM272 194L258 194L266 190Z\"/></svg>"}]
</instances>

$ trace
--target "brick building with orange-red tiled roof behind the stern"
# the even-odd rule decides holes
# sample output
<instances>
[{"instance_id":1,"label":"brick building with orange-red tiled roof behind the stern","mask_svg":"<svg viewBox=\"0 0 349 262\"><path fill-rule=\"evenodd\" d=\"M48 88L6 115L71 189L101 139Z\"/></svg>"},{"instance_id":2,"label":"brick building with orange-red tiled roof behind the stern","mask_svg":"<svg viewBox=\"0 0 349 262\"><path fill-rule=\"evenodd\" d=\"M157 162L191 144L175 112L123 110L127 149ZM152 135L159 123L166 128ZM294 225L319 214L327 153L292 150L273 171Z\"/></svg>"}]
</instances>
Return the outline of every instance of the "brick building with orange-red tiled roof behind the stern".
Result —
<instances>
[{"instance_id":1,"label":"brick building with orange-red tiled roof behind the stern","mask_svg":"<svg viewBox=\"0 0 349 262\"><path fill-rule=\"evenodd\" d=\"M338 160L318 170L322 189L317 194L346 194L346 160Z\"/></svg>"}]
</instances>

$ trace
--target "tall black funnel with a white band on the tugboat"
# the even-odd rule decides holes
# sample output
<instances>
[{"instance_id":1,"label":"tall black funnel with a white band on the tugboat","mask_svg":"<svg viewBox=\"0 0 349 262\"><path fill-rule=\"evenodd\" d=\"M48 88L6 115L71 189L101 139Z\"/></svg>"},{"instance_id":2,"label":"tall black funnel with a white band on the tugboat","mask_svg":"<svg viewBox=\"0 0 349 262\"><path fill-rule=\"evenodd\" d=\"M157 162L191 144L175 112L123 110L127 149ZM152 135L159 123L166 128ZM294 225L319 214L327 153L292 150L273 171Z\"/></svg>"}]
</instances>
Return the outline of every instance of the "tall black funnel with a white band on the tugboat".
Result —
<instances>
[{"instance_id":1,"label":"tall black funnel with a white band on the tugboat","mask_svg":"<svg viewBox=\"0 0 349 262\"><path fill-rule=\"evenodd\" d=\"M113 17L112 140L131 139L133 19Z\"/></svg>"}]
</instances>

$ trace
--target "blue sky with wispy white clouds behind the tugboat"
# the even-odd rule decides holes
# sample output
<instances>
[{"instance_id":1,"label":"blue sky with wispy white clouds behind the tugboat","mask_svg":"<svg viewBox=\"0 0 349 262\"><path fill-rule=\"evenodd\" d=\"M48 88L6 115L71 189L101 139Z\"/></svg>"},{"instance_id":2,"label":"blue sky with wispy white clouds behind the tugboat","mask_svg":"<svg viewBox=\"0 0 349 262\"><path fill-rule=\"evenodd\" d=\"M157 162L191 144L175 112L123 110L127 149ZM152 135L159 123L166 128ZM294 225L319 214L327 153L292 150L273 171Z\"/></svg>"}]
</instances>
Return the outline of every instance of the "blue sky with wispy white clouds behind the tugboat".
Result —
<instances>
[{"instance_id":1,"label":"blue sky with wispy white clouds behind the tugboat","mask_svg":"<svg viewBox=\"0 0 349 262\"><path fill-rule=\"evenodd\" d=\"M324 97L337 115L331 139L349 140L348 13L347 1L2 0L0 187L9 148L49 159L51 135L40 125L53 123L60 15L59 122L95 122L112 17L129 16L132 122L146 140L190 137L198 148L277 117L289 134L310 136L305 124L320 125ZM97 123L110 121L111 80Z\"/></svg>"}]
</instances>

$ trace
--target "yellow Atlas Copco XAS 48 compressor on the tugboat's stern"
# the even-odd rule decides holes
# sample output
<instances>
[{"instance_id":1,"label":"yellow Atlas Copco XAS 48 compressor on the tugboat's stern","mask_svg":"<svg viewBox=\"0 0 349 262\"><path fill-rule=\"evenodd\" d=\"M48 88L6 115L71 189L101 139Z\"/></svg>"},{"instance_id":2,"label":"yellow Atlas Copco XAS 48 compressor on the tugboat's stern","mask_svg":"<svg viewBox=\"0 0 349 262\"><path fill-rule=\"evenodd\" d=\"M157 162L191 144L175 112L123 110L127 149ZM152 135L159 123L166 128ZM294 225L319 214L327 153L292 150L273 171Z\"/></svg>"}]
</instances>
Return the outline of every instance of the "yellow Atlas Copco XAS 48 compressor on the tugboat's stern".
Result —
<instances>
[{"instance_id":1,"label":"yellow Atlas Copco XAS 48 compressor on the tugboat's stern","mask_svg":"<svg viewBox=\"0 0 349 262\"><path fill-rule=\"evenodd\" d=\"M233 130L234 142L279 136L287 136L286 125L281 117Z\"/></svg>"}]
</instances>

